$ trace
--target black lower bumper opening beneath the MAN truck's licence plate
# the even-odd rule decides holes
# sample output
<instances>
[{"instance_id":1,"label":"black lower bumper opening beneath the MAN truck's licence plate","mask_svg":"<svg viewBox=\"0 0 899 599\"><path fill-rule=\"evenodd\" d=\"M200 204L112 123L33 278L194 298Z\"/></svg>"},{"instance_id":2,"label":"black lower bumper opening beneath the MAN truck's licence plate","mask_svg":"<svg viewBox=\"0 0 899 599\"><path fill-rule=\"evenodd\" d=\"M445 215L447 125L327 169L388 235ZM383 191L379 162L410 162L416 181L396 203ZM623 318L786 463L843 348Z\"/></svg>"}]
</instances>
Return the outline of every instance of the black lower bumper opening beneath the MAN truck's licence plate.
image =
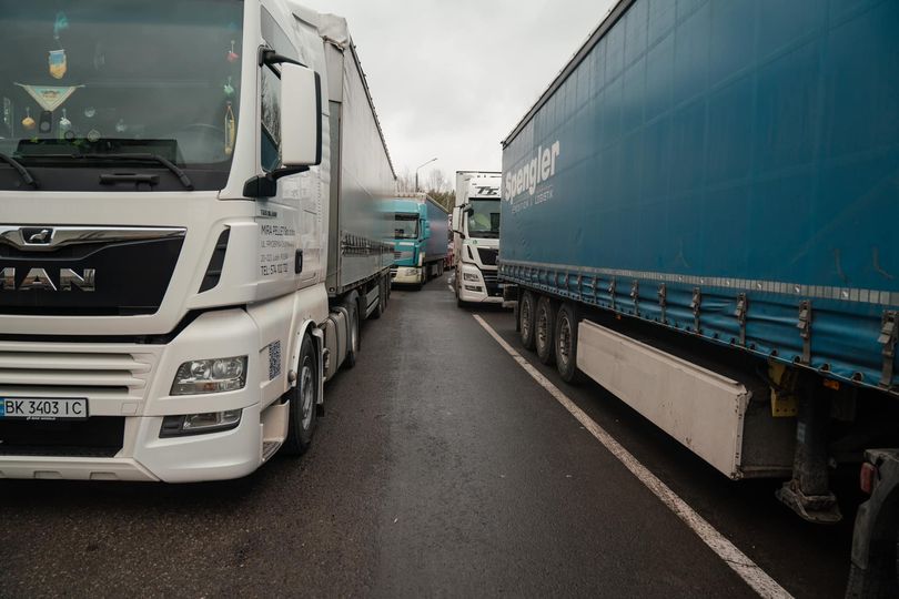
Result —
<instances>
[{"instance_id":1,"label":"black lower bumper opening beneath the MAN truck's licence plate","mask_svg":"<svg viewBox=\"0 0 899 599\"><path fill-rule=\"evenodd\" d=\"M124 418L79 422L0 420L0 456L113 457L124 441Z\"/></svg>"}]
</instances>

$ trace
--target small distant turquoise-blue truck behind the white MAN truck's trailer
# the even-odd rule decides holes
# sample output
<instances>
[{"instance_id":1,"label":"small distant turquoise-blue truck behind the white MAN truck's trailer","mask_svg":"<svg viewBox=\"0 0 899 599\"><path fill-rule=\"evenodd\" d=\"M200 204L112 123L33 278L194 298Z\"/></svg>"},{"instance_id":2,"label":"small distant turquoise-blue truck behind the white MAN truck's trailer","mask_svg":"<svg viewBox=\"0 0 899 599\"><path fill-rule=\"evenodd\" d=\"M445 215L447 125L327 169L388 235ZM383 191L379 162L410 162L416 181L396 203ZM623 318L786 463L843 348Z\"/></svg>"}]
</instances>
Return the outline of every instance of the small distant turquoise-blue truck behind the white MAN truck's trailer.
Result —
<instances>
[{"instance_id":1,"label":"small distant turquoise-blue truck behind the white MAN truck's trailer","mask_svg":"<svg viewBox=\"0 0 899 599\"><path fill-rule=\"evenodd\" d=\"M450 247L446 209L425 193L410 193L390 200L384 210L394 217L391 282L421 288L443 275Z\"/></svg>"}]
</instances>

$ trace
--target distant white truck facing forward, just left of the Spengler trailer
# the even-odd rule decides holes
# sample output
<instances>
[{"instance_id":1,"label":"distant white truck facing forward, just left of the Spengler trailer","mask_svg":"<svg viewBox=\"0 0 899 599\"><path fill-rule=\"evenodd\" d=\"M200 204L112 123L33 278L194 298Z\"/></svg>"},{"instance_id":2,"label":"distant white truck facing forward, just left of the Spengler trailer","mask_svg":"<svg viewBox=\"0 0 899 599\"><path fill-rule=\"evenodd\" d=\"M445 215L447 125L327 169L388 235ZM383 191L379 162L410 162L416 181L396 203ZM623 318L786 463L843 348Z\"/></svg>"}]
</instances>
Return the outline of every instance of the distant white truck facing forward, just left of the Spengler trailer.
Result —
<instances>
[{"instance_id":1,"label":"distant white truck facing forward, just left of the Spengler trailer","mask_svg":"<svg viewBox=\"0 0 899 599\"><path fill-rule=\"evenodd\" d=\"M501 173L456 171L453 251L456 303L502 304L497 278L499 254Z\"/></svg>"}]
</instances>

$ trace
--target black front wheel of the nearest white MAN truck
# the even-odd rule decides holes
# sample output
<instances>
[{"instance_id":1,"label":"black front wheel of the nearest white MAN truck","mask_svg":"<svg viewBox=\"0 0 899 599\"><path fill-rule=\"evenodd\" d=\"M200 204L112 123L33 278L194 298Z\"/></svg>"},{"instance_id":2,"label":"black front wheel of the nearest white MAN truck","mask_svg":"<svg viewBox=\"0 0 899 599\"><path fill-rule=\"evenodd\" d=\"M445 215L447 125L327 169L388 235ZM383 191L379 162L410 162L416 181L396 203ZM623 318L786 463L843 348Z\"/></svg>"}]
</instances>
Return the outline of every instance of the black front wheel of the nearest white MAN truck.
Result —
<instances>
[{"instance_id":1,"label":"black front wheel of the nearest white MAN truck","mask_svg":"<svg viewBox=\"0 0 899 599\"><path fill-rule=\"evenodd\" d=\"M290 402L287 438L281 446L285 456L301 456L312 445L319 420L319 362L309 335L303 337L296 367L296 386L286 393Z\"/></svg>"}]
</instances>

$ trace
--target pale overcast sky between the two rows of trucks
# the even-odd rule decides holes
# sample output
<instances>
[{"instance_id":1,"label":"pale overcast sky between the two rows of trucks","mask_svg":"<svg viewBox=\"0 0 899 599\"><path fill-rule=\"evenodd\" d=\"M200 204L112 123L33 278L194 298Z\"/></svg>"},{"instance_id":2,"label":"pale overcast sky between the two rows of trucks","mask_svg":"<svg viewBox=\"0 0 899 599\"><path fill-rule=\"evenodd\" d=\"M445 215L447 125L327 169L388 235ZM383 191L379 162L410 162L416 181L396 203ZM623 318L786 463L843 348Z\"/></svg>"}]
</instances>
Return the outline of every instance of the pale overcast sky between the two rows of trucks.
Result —
<instances>
[{"instance_id":1,"label":"pale overcast sky between the two rows of trucks","mask_svg":"<svg viewBox=\"0 0 899 599\"><path fill-rule=\"evenodd\" d=\"M346 17L397 174L437 156L451 180L501 170L499 142L614 2L303 1Z\"/></svg>"}]
</instances>

